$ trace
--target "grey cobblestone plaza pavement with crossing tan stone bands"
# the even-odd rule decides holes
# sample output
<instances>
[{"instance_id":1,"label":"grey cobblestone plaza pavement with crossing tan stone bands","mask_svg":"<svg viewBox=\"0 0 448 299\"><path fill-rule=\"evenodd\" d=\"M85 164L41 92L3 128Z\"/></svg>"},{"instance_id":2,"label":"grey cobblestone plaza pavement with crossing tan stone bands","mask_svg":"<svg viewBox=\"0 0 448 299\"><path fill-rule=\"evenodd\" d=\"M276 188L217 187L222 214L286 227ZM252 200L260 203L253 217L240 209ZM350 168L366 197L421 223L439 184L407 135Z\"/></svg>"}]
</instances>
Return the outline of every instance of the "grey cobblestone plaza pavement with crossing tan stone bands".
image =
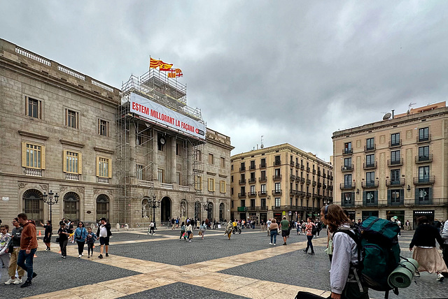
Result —
<instances>
[{"instance_id":1,"label":"grey cobblestone plaza pavement with crossing tan stone bands","mask_svg":"<svg viewBox=\"0 0 448 299\"><path fill-rule=\"evenodd\" d=\"M93 258L77 258L75 245L62 259L59 247L43 251L39 240L34 258L38 276L33 285L21 289L1 282L0 298L294 298L297 291L329 295L330 261L323 251L323 238L313 240L316 255L304 254L304 235L291 231L288 245L282 238L269 245L265 232L245 229L241 235L225 237L223 230L207 230L204 240L195 231L193 242L179 241L180 231L159 229L113 233L110 256L99 259L99 245ZM402 256L410 257L412 232L400 238ZM53 238L54 239L54 238ZM87 250L87 248L85 249ZM4 269L3 269L4 270ZM2 280L6 280L3 272ZM389 298L447 298L447 282L435 274L422 273L416 284L400 289ZM384 293L370 291L370 298Z\"/></svg>"}]
</instances>

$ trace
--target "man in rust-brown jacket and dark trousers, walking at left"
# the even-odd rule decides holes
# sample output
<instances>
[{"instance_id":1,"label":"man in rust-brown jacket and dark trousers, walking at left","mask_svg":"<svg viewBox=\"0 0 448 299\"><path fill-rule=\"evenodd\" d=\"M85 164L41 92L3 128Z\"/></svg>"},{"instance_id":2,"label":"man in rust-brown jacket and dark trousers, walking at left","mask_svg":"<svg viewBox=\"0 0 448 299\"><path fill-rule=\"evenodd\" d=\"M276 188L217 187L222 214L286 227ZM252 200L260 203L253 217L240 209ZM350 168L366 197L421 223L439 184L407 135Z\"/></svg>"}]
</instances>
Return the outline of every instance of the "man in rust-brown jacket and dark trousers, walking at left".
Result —
<instances>
[{"instance_id":1,"label":"man in rust-brown jacket and dark trousers, walking at left","mask_svg":"<svg viewBox=\"0 0 448 299\"><path fill-rule=\"evenodd\" d=\"M28 221L25 213L20 213L17 217L23 226L17 265L27 272L27 281L20 286L26 288L32 285L31 279L37 275L33 272L33 257L37 249L36 224L33 220Z\"/></svg>"}]
</instances>

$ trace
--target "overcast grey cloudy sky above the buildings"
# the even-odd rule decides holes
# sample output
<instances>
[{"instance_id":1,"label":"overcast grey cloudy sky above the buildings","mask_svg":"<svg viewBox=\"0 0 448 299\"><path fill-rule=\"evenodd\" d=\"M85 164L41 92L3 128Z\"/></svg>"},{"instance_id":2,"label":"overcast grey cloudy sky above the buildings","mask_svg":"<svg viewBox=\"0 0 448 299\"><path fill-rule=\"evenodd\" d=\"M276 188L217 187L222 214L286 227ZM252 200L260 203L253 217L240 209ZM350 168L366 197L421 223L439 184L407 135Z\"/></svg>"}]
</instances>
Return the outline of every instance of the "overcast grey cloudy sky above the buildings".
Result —
<instances>
[{"instance_id":1,"label":"overcast grey cloudy sky above the buildings","mask_svg":"<svg viewBox=\"0 0 448 299\"><path fill-rule=\"evenodd\" d=\"M290 143L329 161L332 132L444 101L447 1L10 1L0 38L120 88L149 56L239 154Z\"/></svg>"}]
</instances>

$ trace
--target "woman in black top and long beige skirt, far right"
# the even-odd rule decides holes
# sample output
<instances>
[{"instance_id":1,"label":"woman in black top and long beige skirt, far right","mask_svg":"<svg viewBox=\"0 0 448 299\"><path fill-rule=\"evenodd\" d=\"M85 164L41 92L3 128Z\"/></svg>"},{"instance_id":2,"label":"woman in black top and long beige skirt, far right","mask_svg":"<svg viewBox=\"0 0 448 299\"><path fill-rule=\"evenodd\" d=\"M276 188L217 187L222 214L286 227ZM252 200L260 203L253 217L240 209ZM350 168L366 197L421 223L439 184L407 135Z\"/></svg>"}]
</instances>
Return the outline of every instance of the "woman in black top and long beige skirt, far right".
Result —
<instances>
[{"instance_id":1,"label":"woman in black top and long beige skirt, far right","mask_svg":"<svg viewBox=\"0 0 448 299\"><path fill-rule=\"evenodd\" d=\"M419 263L419 272L437 273L437 280L442 281L442 272L448 272L442 256L435 247L435 240L443 249L444 242L435 226L430 225L428 217L421 216L417 219L417 226L412 241L409 244L409 251L414 250L412 258ZM419 275L416 275L417 277Z\"/></svg>"}]
</instances>

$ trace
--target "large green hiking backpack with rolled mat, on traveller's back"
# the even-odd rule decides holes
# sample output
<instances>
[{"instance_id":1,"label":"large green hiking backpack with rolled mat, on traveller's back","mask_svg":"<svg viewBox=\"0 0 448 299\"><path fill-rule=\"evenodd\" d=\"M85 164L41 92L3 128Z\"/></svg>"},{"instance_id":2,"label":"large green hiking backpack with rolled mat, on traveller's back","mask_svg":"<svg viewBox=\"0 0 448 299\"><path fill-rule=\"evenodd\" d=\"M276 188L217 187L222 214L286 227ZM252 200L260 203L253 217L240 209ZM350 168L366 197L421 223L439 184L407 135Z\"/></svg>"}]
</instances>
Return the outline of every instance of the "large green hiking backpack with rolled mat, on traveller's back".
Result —
<instances>
[{"instance_id":1,"label":"large green hiking backpack with rolled mat, on traveller's back","mask_svg":"<svg viewBox=\"0 0 448 299\"><path fill-rule=\"evenodd\" d=\"M349 235L358 245L358 265L356 269L360 282L376 291L393 289L387 280L398 263L400 263L400 245L398 233L400 227L391 221L377 217L368 217L355 233L349 230L338 230ZM398 293L398 289L393 289Z\"/></svg>"}]
</instances>

